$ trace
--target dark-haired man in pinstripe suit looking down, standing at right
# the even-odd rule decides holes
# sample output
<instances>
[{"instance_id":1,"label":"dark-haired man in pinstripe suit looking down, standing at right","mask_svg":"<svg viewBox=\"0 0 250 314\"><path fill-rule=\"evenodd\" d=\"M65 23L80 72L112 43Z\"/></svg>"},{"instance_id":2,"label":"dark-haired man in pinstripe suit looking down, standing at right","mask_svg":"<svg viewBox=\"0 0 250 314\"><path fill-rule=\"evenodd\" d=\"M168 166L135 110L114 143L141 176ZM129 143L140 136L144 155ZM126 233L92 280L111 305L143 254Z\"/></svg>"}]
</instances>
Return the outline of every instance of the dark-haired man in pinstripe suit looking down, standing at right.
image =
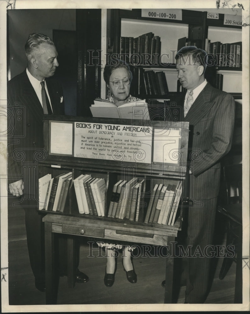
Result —
<instances>
[{"instance_id":1,"label":"dark-haired man in pinstripe suit looking down, standing at right","mask_svg":"<svg viewBox=\"0 0 250 314\"><path fill-rule=\"evenodd\" d=\"M192 246L191 256L203 253L186 258L185 303L203 303L208 288L208 256L214 236L220 159L231 148L235 102L230 94L215 89L204 78L207 65L204 50L183 47L175 59L178 79L187 90L177 103L183 108L182 121L190 124L192 147L184 189L193 201L188 209L187 245Z\"/></svg>"}]
</instances>

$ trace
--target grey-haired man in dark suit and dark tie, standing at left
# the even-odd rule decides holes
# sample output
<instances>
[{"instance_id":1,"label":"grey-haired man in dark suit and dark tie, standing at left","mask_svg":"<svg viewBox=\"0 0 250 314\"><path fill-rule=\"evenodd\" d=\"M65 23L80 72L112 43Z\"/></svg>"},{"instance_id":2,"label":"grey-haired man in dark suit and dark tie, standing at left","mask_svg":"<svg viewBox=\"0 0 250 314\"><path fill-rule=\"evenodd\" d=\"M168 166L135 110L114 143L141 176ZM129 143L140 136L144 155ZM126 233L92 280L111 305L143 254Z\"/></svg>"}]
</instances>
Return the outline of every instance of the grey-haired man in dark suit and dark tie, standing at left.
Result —
<instances>
[{"instance_id":1,"label":"grey-haired man in dark suit and dark tie, standing at left","mask_svg":"<svg viewBox=\"0 0 250 314\"><path fill-rule=\"evenodd\" d=\"M25 209L25 226L31 268L36 288L45 291L44 230L42 215L37 212L38 176L37 162L44 160L43 114L64 115L61 84L53 78L58 67L57 51L53 41L43 34L29 35L25 44L27 68L7 84L8 97L8 184L9 192L22 196L15 206ZM42 95L42 84L45 94ZM47 107L47 112L45 108ZM66 242L59 241L64 249ZM62 252L62 250L60 250ZM67 258L62 252L62 274L66 274ZM60 255L61 257L61 255ZM79 259L76 258L76 267ZM77 282L87 282L88 277L76 271Z\"/></svg>"}]
</instances>

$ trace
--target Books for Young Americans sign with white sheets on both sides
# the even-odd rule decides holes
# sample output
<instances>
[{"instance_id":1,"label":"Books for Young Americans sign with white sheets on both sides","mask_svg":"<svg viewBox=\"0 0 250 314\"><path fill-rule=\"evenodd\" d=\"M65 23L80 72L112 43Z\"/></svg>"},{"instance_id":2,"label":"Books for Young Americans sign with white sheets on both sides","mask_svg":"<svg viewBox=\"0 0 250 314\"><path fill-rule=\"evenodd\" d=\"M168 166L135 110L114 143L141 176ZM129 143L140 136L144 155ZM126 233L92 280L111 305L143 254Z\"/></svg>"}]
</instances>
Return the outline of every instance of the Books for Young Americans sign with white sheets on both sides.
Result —
<instances>
[{"instance_id":1,"label":"Books for Young Americans sign with white sheets on both sides","mask_svg":"<svg viewBox=\"0 0 250 314\"><path fill-rule=\"evenodd\" d=\"M50 121L49 154L151 164L177 164L180 128Z\"/></svg>"}]
</instances>

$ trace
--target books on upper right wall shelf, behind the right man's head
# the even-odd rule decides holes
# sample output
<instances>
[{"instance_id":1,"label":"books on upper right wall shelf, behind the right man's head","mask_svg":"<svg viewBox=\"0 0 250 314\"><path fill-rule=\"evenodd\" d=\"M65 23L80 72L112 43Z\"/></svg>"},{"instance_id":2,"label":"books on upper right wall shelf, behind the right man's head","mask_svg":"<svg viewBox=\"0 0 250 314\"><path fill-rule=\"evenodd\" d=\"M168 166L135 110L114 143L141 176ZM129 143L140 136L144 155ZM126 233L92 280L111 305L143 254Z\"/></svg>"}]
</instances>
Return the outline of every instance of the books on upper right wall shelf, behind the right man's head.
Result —
<instances>
[{"instance_id":1,"label":"books on upper right wall shelf, behind the right man's head","mask_svg":"<svg viewBox=\"0 0 250 314\"><path fill-rule=\"evenodd\" d=\"M201 39L179 38L177 51L185 46L203 48ZM211 42L210 39L206 38L204 50L213 57L214 62L212 64L215 66L242 67L242 41L223 44L220 41Z\"/></svg>"}]
</instances>

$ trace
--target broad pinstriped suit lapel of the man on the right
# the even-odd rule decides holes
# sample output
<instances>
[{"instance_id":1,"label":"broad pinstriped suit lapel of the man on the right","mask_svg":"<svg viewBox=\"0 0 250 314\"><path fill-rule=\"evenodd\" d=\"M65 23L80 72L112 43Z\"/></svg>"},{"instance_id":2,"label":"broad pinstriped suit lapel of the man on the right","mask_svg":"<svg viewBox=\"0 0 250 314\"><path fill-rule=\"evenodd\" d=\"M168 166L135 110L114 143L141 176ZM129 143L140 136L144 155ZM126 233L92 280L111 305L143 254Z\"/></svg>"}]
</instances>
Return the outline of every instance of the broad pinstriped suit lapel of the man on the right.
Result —
<instances>
[{"instance_id":1,"label":"broad pinstriped suit lapel of the man on the right","mask_svg":"<svg viewBox=\"0 0 250 314\"><path fill-rule=\"evenodd\" d=\"M214 106L215 101L211 101L211 95L212 86L207 83L207 85L194 101L186 117L184 118L184 121L188 121L191 125L196 125Z\"/></svg>"}]
</instances>

